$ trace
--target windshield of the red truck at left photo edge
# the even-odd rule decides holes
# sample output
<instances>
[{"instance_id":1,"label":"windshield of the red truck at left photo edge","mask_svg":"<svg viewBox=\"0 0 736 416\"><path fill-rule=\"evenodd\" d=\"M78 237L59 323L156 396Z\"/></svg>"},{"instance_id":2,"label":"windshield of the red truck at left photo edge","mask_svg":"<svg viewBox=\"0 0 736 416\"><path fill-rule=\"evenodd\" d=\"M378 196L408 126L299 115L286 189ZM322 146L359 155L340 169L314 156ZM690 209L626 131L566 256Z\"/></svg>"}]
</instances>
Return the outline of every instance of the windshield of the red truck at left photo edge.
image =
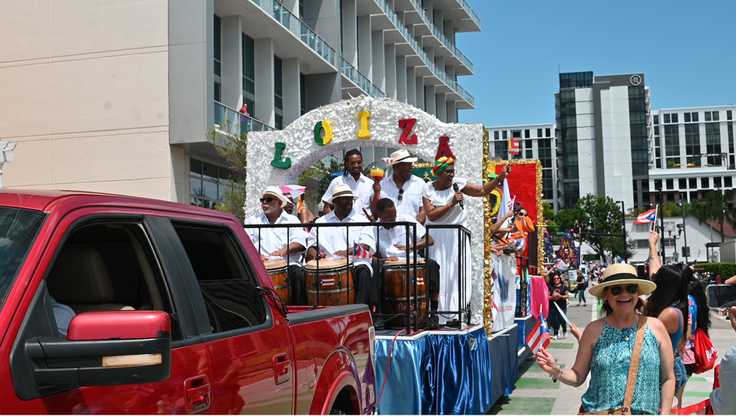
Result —
<instances>
[{"instance_id":1,"label":"windshield of the red truck at left photo edge","mask_svg":"<svg viewBox=\"0 0 736 416\"><path fill-rule=\"evenodd\" d=\"M3 304L45 218L43 212L0 207L0 295Z\"/></svg>"}]
</instances>

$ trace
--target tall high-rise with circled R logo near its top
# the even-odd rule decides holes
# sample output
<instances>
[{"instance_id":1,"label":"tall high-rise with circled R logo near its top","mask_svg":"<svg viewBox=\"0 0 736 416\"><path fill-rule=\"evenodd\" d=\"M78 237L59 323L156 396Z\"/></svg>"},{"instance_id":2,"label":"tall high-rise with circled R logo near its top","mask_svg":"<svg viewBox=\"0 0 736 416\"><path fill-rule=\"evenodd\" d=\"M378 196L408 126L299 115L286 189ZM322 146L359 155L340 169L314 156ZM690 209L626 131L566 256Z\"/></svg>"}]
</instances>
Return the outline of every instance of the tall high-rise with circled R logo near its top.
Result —
<instances>
[{"instance_id":1,"label":"tall high-rise with circled R logo near its top","mask_svg":"<svg viewBox=\"0 0 736 416\"><path fill-rule=\"evenodd\" d=\"M651 102L643 73L560 73L555 94L559 199L609 196L648 204Z\"/></svg>"}]
</instances>

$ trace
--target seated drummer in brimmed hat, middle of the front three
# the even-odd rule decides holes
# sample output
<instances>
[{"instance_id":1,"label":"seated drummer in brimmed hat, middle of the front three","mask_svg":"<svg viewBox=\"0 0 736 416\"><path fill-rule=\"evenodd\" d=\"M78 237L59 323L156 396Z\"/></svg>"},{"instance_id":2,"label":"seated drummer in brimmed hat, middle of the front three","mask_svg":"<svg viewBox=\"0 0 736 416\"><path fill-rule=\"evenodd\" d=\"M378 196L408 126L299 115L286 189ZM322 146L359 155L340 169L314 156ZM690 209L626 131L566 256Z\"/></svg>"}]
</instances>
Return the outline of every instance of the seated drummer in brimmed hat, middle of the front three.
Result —
<instances>
[{"instance_id":1,"label":"seated drummer in brimmed hat, middle of the front three","mask_svg":"<svg viewBox=\"0 0 736 416\"><path fill-rule=\"evenodd\" d=\"M353 208L353 202L358 196L347 184L334 187L332 196L327 201L335 209L328 214L317 218L314 223L367 223L365 215L358 214ZM375 240L372 226L350 227L312 227L307 241L307 258L316 257L352 257L355 243L375 253ZM317 232L319 232L319 251L317 249ZM372 259L354 258L353 266L355 278L355 303L367 304L369 309L378 305L378 283L373 281Z\"/></svg>"}]
</instances>

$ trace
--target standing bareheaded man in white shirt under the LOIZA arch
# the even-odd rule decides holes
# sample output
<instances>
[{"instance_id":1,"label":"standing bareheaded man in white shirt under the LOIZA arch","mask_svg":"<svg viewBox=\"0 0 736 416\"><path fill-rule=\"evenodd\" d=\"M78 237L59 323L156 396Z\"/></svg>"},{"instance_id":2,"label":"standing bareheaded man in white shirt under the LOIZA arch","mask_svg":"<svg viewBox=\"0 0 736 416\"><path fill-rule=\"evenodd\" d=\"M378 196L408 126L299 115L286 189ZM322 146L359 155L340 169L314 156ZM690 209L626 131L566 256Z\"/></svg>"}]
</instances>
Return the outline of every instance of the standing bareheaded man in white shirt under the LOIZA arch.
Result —
<instances>
[{"instance_id":1,"label":"standing bareheaded man in white shirt under the LOIZA arch","mask_svg":"<svg viewBox=\"0 0 736 416\"><path fill-rule=\"evenodd\" d=\"M333 197L335 187L347 185L357 197L353 203L353 209L355 209L358 215L365 216L365 212L370 208L371 198L373 198L373 179L370 179L361 172L363 169L363 154L361 154L361 151L357 148L346 151L343 166L342 175L337 176L330 182L325 195L322 196L322 201L325 201L325 208L323 210L325 214L332 212L334 207L331 206L330 199Z\"/></svg>"}]
</instances>

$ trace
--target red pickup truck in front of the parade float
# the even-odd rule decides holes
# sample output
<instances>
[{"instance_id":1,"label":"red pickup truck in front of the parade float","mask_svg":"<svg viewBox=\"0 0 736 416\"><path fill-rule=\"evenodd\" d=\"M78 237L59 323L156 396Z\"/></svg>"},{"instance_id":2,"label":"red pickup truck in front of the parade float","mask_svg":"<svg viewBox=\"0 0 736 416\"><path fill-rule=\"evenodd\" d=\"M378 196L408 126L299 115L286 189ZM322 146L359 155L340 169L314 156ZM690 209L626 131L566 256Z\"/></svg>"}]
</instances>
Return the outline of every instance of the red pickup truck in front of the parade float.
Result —
<instances>
[{"instance_id":1,"label":"red pickup truck in front of the parade float","mask_svg":"<svg viewBox=\"0 0 736 416\"><path fill-rule=\"evenodd\" d=\"M373 412L367 306L272 289L232 215L0 190L0 413Z\"/></svg>"}]
</instances>

